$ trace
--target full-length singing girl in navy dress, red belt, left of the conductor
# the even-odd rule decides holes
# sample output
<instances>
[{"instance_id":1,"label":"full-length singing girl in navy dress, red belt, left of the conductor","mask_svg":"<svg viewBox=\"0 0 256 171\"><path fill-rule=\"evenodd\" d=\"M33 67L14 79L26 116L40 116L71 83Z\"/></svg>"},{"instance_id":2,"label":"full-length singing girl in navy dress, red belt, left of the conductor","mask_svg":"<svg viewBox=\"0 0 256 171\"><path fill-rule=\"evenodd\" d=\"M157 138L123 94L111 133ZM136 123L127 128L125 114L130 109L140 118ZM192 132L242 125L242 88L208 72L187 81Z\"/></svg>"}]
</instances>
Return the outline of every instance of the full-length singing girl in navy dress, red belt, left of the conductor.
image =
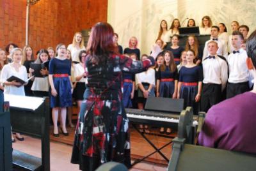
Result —
<instances>
[{"instance_id":1,"label":"full-length singing girl in navy dress, red belt, left of the conductor","mask_svg":"<svg viewBox=\"0 0 256 171\"><path fill-rule=\"evenodd\" d=\"M49 63L49 83L51 85L52 121L54 124L53 135L59 137L58 112L61 114L61 131L68 136L66 129L67 107L72 106L72 81L70 78L71 61L65 56L66 47L62 43L56 47L57 56Z\"/></svg>"}]
</instances>

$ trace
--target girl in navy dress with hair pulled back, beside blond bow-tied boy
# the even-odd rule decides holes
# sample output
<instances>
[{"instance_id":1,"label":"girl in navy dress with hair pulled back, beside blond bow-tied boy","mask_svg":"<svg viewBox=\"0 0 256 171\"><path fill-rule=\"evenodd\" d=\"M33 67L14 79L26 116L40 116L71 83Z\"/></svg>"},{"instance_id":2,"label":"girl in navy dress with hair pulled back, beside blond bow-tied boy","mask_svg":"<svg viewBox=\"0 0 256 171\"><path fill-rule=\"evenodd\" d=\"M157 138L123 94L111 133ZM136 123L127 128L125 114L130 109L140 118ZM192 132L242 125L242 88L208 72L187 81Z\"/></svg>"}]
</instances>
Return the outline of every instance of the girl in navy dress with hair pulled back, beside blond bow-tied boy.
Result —
<instances>
[{"instance_id":1,"label":"girl in navy dress with hair pulled back, beside blond bow-tied boy","mask_svg":"<svg viewBox=\"0 0 256 171\"><path fill-rule=\"evenodd\" d=\"M177 98L184 99L184 108L193 107L194 115L198 114L198 105L202 91L203 71L195 64L195 52L188 50L187 64L179 71L179 84Z\"/></svg>"}]
</instances>

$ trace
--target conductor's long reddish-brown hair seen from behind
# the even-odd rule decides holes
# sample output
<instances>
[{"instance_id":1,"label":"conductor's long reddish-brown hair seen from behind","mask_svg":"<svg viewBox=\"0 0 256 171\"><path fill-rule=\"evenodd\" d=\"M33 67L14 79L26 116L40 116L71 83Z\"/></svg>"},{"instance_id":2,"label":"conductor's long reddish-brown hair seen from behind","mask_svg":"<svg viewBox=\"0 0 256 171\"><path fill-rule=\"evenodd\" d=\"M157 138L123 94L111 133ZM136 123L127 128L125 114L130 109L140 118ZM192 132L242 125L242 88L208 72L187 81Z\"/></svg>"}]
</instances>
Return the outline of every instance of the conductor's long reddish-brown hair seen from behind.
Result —
<instances>
[{"instance_id":1,"label":"conductor's long reddish-brown hair seen from behind","mask_svg":"<svg viewBox=\"0 0 256 171\"><path fill-rule=\"evenodd\" d=\"M92 27L86 48L92 63L106 63L110 54L117 54L113 36L113 28L107 22L98 22Z\"/></svg>"}]
</instances>

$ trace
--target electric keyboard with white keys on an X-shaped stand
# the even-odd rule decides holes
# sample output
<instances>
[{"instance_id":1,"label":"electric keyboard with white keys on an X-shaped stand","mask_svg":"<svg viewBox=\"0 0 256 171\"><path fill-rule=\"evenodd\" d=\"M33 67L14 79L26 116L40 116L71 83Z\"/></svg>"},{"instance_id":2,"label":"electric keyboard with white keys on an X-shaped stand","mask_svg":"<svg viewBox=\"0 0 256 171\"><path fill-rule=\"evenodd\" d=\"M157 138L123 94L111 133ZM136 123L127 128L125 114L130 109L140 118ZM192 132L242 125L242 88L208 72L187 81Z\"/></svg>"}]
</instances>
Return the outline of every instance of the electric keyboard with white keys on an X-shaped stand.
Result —
<instances>
[{"instance_id":1,"label":"electric keyboard with white keys on an X-shaped stand","mask_svg":"<svg viewBox=\"0 0 256 171\"><path fill-rule=\"evenodd\" d=\"M136 108L125 108L127 117L132 123L149 124L155 126L177 127L179 124L179 113L159 112L152 110L141 110ZM198 125L198 116L193 116L193 126Z\"/></svg>"}]
</instances>

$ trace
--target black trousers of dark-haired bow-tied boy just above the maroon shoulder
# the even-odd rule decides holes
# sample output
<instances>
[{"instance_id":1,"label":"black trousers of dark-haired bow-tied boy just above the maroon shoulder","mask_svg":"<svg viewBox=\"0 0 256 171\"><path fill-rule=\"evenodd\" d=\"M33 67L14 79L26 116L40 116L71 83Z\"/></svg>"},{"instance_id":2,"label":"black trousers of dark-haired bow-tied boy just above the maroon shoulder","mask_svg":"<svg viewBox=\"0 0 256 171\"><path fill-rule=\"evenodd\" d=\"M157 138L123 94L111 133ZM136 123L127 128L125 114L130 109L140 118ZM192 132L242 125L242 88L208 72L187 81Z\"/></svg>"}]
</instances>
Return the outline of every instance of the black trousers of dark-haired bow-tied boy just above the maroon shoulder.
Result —
<instances>
[{"instance_id":1,"label":"black trousers of dark-haired bow-tied boy just above the maroon shoulder","mask_svg":"<svg viewBox=\"0 0 256 171\"><path fill-rule=\"evenodd\" d=\"M237 94L250 91L249 82L230 83L227 85L227 98L232 98Z\"/></svg>"}]
</instances>

